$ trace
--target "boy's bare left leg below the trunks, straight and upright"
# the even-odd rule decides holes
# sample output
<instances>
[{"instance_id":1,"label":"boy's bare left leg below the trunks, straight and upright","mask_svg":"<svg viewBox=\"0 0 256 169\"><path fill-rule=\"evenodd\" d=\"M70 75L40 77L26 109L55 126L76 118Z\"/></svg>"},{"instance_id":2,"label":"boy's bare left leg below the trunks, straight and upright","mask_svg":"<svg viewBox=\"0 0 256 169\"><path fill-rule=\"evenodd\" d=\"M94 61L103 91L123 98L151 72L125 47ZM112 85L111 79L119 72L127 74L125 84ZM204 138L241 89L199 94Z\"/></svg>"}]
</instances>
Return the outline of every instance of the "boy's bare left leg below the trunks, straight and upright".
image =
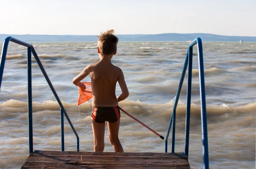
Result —
<instances>
[{"instance_id":1,"label":"boy's bare left leg below the trunks, straight and upright","mask_svg":"<svg viewBox=\"0 0 256 169\"><path fill-rule=\"evenodd\" d=\"M92 120L93 137L94 137L94 152L103 152L105 143L105 123L96 123Z\"/></svg>"}]
</instances>

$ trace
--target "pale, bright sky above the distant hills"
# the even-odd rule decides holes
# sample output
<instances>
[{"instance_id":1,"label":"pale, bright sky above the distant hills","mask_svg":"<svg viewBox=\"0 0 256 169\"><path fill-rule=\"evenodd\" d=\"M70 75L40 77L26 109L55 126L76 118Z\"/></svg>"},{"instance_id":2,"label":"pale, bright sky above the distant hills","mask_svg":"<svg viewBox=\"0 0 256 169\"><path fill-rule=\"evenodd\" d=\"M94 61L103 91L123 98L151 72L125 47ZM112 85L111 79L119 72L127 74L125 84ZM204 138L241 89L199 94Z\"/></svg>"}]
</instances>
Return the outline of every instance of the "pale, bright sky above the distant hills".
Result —
<instances>
[{"instance_id":1,"label":"pale, bright sky above the distant hills","mask_svg":"<svg viewBox=\"0 0 256 169\"><path fill-rule=\"evenodd\" d=\"M0 0L0 34L256 36L256 0Z\"/></svg>"}]
</instances>

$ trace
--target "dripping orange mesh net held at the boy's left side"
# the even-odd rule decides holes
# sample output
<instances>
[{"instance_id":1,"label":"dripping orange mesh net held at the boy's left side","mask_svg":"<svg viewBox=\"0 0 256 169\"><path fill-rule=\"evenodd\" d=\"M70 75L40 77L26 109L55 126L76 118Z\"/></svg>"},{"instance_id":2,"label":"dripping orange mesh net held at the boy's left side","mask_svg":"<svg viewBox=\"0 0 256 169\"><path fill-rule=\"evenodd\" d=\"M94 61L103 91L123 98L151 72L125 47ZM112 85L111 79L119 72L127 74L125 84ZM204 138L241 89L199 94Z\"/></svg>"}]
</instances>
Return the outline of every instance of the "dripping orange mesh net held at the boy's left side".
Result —
<instances>
[{"instance_id":1,"label":"dripping orange mesh net held at the boy's left side","mask_svg":"<svg viewBox=\"0 0 256 169\"><path fill-rule=\"evenodd\" d=\"M84 102L89 101L91 98L93 98L93 92L91 88L91 83L90 82L82 82L85 86L86 89L81 89L79 87L78 89L78 98L77 98L77 104L78 106Z\"/></svg>"}]
</instances>

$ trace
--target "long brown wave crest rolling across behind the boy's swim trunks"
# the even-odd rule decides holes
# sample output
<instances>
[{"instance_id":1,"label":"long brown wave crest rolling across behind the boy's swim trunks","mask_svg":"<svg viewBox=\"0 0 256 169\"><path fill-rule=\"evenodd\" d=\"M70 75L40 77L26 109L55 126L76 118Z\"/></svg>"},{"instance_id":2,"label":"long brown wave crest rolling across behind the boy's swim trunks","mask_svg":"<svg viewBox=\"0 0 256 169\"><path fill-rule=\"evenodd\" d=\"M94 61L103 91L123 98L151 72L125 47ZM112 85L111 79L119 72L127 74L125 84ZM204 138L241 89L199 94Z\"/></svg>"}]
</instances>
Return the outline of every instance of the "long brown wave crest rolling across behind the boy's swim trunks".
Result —
<instances>
[{"instance_id":1,"label":"long brown wave crest rolling across behind the boy's swim trunks","mask_svg":"<svg viewBox=\"0 0 256 169\"><path fill-rule=\"evenodd\" d=\"M120 107L125 109L127 112L131 112L135 115L145 115L145 116L151 116L155 115L155 113L160 113L158 115L170 117L172 108L174 106L175 98L170 100L168 103L161 103L161 104L147 104L142 103L140 101L130 101L125 100L119 104ZM77 103L66 103L64 101L61 101L69 113L77 113L78 112L78 106ZM58 105L57 101L52 100L46 100L43 103L33 102L33 112L42 112L42 115L45 114L44 111L53 111L51 114L55 115L59 113L60 106ZM91 102L84 103L79 106L81 112L91 112ZM1 115L5 114L1 117L2 120L4 120L5 117L8 117L9 115L12 116L12 114L8 113L27 113L27 102L19 101L19 100L8 100L6 102L3 102L0 104L0 108L2 109ZM161 110L161 111L159 111ZM57 111L57 112L56 112ZM191 104L191 114L200 117L200 111L201 107L200 105L196 105L194 103ZM237 116L238 113L246 113L246 112L254 112L256 111L256 102L254 103L248 103L242 106L229 106L228 104L222 103L219 105L207 105L207 115L209 118L212 116L217 115L226 115L227 113L230 115ZM44 112L44 113L43 113ZM180 100L177 105L176 110L177 115L186 115L186 104L182 103ZM242 114L241 114L242 115Z\"/></svg>"}]
</instances>

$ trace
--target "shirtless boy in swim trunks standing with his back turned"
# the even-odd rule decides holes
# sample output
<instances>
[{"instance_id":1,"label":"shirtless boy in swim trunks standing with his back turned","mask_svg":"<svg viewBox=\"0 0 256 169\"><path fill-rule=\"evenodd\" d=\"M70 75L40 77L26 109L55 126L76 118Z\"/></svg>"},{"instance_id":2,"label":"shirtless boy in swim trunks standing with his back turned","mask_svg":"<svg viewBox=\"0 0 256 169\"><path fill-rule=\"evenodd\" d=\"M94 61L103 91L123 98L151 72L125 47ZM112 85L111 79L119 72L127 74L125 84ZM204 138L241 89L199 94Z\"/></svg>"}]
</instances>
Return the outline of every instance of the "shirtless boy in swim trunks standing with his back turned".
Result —
<instances>
[{"instance_id":1,"label":"shirtless boy in swim trunks standing with his back turned","mask_svg":"<svg viewBox=\"0 0 256 169\"><path fill-rule=\"evenodd\" d=\"M111 58L116 54L118 38L114 30L101 33L98 39L99 62L86 66L84 70L73 79L76 86L85 89L81 80L88 74L91 77L93 92L93 112L91 114L94 152L103 152L105 143L105 121L108 121L109 141L114 152L124 152L118 138L120 125L120 110L118 102L125 100L129 92L125 83L122 70L111 63ZM116 82L122 90L122 94L116 97Z\"/></svg>"}]
</instances>

